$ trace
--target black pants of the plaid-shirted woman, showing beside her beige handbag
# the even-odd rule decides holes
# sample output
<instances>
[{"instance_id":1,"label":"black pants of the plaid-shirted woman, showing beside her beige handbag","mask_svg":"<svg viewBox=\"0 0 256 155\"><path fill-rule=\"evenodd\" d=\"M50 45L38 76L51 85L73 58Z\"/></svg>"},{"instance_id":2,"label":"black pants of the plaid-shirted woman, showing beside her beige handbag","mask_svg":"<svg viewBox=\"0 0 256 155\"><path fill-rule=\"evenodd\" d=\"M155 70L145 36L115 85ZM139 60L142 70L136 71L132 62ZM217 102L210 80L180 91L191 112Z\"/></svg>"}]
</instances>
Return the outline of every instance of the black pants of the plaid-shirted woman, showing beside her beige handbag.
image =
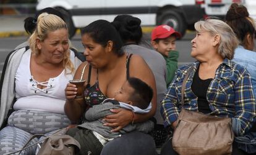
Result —
<instances>
[{"instance_id":1,"label":"black pants of the plaid-shirted woman, showing beside her beige handbag","mask_svg":"<svg viewBox=\"0 0 256 155\"><path fill-rule=\"evenodd\" d=\"M161 149L161 155L179 155L177 154L174 149L173 149L173 143L172 143L173 138L169 138L166 143L164 143L162 149ZM217 154L217 153L216 153ZM233 147L232 147L232 155L244 155L247 154L241 149L237 147L237 143L234 141L233 142Z\"/></svg>"}]
</instances>

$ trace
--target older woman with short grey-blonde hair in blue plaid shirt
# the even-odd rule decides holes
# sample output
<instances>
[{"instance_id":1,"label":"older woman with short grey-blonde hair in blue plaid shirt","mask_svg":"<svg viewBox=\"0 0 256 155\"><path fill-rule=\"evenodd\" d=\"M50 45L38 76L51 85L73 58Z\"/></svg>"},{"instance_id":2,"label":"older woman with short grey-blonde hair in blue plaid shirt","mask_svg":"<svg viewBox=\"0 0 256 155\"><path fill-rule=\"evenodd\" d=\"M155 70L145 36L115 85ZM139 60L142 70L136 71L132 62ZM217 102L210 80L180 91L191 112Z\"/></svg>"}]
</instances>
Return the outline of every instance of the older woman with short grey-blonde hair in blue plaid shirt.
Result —
<instances>
[{"instance_id":1,"label":"older woman with short grey-blonde hair in blue plaid shirt","mask_svg":"<svg viewBox=\"0 0 256 155\"><path fill-rule=\"evenodd\" d=\"M231 117L235 135L249 132L255 120L255 98L249 73L231 62L238 41L223 21L207 19L195 23L197 35L192 39L191 56L197 62L177 70L162 101L164 125L177 125L181 112L181 87L185 74L193 68L186 82L184 108L211 116ZM161 154L177 154L171 140ZM243 154L233 143L233 154Z\"/></svg>"}]
</instances>

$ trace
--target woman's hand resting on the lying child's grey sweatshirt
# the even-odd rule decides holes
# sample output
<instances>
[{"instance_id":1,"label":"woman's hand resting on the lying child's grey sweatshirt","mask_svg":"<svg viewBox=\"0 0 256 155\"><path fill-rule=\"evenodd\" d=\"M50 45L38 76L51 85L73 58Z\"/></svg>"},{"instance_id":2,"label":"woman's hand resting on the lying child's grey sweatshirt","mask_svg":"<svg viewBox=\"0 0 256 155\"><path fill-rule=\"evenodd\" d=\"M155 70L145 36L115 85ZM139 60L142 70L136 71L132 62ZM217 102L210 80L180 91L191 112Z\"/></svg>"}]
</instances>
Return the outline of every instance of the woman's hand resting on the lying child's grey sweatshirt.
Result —
<instances>
[{"instance_id":1,"label":"woman's hand resting on the lying child's grey sweatshirt","mask_svg":"<svg viewBox=\"0 0 256 155\"><path fill-rule=\"evenodd\" d=\"M111 132L118 132L134 119L134 114L130 110L119 108L110 109L110 111L114 114L106 116L103 121L106 121L104 125L113 127Z\"/></svg>"}]
</instances>

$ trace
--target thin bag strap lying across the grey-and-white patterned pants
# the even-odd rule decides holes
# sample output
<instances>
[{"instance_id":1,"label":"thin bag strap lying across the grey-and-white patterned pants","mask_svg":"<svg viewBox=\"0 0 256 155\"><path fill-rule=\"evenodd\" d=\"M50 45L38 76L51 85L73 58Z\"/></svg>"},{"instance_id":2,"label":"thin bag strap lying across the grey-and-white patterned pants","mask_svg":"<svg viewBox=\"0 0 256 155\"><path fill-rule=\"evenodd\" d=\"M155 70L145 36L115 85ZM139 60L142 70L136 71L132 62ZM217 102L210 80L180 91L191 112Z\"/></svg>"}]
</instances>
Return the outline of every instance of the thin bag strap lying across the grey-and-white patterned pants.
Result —
<instances>
[{"instance_id":1,"label":"thin bag strap lying across the grey-and-white patterned pants","mask_svg":"<svg viewBox=\"0 0 256 155\"><path fill-rule=\"evenodd\" d=\"M63 131L63 130L66 130L66 128L64 128L64 129L59 129L59 130L57 130L56 132L54 132L53 135L50 135L50 136L46 136L46 135L43 135L43 134L35 134L35 135L32 135L32 137L30 137L30 139L29 139L29 140L27 141L27 143L22 147L22 149L19 149L18 151L15 151L15 152L12 152L12 153L9 153L9 154L6 154L6 155L15 154L15 153L19 153L19 154L20 154L21 151L23 151L24 149L28 149L28 148L30 148L30 147L32 147L32 146L38 145L38 144L41 143L42 141L45 141L46 139L53 137L54 135L56 135L57 133L59 133L59 132L61 132L61 131ZM45 138L43 138L43 139L40 140L40 141L37 141L37 142L34 143L33 145L27 146L28 143L30 143L30 141L33 140L33 138L42 137L42 136L45 137ZM27 146L27 147L26 147L26 146Z\"/></svg>"}]
</instances>

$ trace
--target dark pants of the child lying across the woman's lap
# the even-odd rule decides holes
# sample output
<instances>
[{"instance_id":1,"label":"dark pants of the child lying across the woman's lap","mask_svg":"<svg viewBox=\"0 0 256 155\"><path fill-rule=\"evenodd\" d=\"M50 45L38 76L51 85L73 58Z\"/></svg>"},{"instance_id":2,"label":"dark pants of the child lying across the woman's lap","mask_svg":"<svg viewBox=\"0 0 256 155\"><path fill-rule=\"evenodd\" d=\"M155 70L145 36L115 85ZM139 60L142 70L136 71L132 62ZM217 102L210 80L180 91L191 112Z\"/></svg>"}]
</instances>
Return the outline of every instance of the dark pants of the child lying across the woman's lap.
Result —
<instances>
[{"instance_id":1,"label":"dark pants of the child lying across the woman's lap","mask_svg":"<svg viewBox=\"0 0 256 155\"><path fill-rule=\"evenodd\" d=\"M103 145L98 138L95 137L92 130L71 128L67 131L67 135L74 137L80 143L80 152L77 155L100 155Z\"/></svg>"}]
</instances>

